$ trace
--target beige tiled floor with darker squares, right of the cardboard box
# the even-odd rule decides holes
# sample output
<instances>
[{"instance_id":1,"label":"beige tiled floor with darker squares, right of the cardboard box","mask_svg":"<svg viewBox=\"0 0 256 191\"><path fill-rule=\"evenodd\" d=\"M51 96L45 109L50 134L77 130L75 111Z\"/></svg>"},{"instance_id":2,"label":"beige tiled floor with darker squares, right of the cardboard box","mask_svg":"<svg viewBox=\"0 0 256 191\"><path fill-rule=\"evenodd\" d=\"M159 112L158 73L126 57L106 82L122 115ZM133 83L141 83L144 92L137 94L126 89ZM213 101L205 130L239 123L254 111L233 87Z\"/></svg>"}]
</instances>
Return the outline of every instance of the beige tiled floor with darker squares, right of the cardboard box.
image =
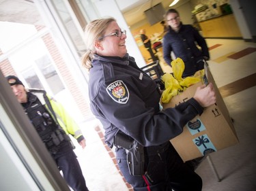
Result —
<instances>
[{"instance_id":1,"label":"beige tiled floor with darker squares, right of the cardboard box","mask_svg":"<svg viewBox=\"0 0 256 191\"><path fill-rule=\"evenodd\" d=\"M197 173L203 179L204 191L253 191L256 190L256 44L242 40L207 41L209 47L221 44L210 50L209 63L240 143L210 154L221 181L214 176L208 160L203 160ZM221 57L222 61L218 59Z\"/></svg>"}]
</instances>

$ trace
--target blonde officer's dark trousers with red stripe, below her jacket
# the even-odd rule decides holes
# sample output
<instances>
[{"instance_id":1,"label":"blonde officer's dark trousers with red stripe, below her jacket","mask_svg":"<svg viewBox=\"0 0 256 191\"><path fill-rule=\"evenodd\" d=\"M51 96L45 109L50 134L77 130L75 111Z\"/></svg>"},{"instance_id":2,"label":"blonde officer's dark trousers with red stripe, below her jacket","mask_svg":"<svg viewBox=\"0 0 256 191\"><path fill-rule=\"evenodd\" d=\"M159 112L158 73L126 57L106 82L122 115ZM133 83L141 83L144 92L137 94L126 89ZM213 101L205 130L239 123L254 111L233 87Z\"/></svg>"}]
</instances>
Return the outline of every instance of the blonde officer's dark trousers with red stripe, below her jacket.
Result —
<instances>
[{"instance_id":1,"label":"blonde officer's dark trousers with red stripe, below her jacket","mask_svg":"<svg viewBox=\"0 0 256 191\"><path fill-rule=\"evenodd\" d=\"M201 191L202 180L193 169L184 164L174 147L169 143L165 152L146 154L146 173L132 176L129 173L124 149L116 151L119 169L134 191Z\"/></svg>"}]
</instances>

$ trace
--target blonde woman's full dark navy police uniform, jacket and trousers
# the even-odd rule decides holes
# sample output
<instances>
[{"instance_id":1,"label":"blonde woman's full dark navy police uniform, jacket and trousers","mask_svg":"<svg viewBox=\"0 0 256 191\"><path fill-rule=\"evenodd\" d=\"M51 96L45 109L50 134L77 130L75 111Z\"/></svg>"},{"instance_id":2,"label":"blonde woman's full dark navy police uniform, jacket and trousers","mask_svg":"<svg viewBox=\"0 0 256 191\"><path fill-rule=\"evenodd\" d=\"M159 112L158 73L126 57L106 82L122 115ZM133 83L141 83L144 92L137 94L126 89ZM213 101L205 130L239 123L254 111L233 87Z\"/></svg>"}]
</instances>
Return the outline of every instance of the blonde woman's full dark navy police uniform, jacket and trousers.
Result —
<instances>
[{"instance_id":1,"label":"blonde woman's full dark navy police uniform, jacket and trousers","mask_svg":"<svg viewBox=\"0 0 256 191\"><path fill-rule=\"evenodd\" d=\"M145 146L142 176L130 175L126 151L116 149L119 168L134 190L201 190L201 177L184 164L169 142L189 120L202 114L195 99L160 111L158 86L128 54L124 58L95 55L89 70L89 96L109 147L117 131Z\"/></svg>"}]
</instances>

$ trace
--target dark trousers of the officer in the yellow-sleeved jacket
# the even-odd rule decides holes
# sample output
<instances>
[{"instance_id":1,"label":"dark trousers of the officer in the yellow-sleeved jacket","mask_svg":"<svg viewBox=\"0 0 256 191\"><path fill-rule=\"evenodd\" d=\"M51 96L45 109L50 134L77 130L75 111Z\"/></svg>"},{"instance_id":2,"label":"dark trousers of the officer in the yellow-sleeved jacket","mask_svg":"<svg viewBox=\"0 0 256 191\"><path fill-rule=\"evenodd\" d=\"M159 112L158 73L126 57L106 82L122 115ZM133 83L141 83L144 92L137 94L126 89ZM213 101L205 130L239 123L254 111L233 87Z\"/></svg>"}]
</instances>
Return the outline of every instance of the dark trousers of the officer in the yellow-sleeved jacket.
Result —
<instances>
[{"instance_id":1,"label":"dark trousers of the officer in the yellow-sleeved jacket","mask_svg":"<svg viewBox=\"0 0 256 191\"><path fill-rule=\"evenodd\" d=\"M52 156L62 171L68 186L74 191L88 191L79 161L67 141L64 141L59 152L52 154Z\"/></svg>"}]
</instances>

